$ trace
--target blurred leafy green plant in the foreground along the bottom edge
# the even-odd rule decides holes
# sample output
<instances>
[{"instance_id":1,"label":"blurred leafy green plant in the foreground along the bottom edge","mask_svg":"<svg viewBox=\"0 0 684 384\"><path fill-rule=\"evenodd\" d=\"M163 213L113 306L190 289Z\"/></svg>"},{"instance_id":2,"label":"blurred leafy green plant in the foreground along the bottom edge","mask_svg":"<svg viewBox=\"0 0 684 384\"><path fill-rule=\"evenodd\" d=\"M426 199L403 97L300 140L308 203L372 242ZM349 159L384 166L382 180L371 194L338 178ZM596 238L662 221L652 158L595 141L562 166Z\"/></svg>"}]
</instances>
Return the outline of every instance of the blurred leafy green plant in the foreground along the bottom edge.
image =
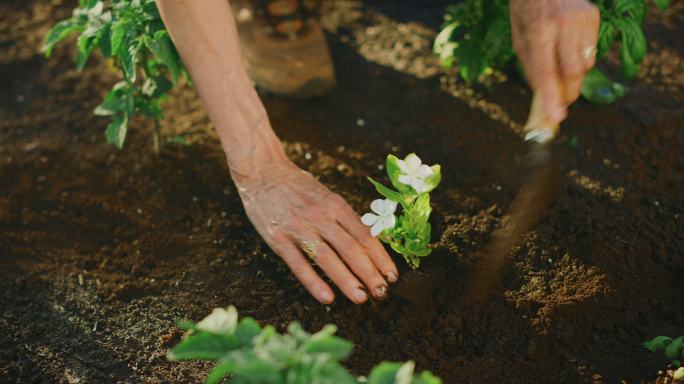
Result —
<instances>
[{"instance_id":1,"label":"blurred leafy green plant in the foreground along the bottom edge","mask_svg":"<svg viewBox=\"0 0 684 384\"><path fill-rule=\"evenodd\" d=\"M341 364L353 344L335 336L336 327L326 325L313 335L293 322L287 333L270 325L262 328L250 317L238 321L235 307L216 308L195 324L179 323L187 337L167 354L170 361L211 360L217 364L206 383L228 378L230 383L253 384L441 384L428 371L414 373L415 365L383 362L368 378L354 377Z\"/></svg>"}]
</instances>

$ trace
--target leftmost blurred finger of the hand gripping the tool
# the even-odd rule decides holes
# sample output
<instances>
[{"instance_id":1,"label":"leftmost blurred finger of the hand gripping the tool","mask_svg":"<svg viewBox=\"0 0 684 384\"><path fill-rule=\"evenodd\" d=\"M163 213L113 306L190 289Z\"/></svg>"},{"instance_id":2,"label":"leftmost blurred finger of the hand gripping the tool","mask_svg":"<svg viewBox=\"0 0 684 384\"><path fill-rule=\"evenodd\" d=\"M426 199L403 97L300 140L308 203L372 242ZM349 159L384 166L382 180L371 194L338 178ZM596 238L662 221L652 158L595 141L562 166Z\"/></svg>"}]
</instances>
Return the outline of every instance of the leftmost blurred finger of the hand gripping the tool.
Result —
<instances>
[{"instance_id":1,"label":"leftmost blurred finger of the hand gripping the tool","mask_svg":"<svg viewBox=\"0 0 684 384\"><path fill-rule=\"evenodd\" d=\"M536 23L529 33L529 73L526 74L535 93L541 96L544 114L559 123L565 119L566 110L556 57L558 27L550 22Z\"/></svg>"}]
</instances>

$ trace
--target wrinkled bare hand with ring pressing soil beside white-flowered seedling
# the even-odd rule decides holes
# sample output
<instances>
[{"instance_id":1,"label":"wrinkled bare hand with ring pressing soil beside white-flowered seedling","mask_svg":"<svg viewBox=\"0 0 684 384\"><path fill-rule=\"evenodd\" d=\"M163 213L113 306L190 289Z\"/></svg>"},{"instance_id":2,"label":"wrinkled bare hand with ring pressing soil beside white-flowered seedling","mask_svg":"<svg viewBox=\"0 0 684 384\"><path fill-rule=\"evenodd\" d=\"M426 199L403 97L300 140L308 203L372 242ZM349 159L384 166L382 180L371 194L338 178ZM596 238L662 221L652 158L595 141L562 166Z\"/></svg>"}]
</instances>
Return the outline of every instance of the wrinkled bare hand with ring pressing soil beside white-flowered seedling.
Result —
<instances>
[{"instance_id":1,"label":"wrinkled bare hand with ring pressing soil beside white-flowered seedling","mask_svg":"<svg viewBox=\"0 0 684 384\"><path fill-rule=\"evenodd\" d=\"M342 197L288 160L233 178L256 230L318 301L328 304L335 296L313 263L354 303L365 302L368 293L386 297L397 268ZM315 240L311 260L301 244Z\"/></svg>"}]
</instances>

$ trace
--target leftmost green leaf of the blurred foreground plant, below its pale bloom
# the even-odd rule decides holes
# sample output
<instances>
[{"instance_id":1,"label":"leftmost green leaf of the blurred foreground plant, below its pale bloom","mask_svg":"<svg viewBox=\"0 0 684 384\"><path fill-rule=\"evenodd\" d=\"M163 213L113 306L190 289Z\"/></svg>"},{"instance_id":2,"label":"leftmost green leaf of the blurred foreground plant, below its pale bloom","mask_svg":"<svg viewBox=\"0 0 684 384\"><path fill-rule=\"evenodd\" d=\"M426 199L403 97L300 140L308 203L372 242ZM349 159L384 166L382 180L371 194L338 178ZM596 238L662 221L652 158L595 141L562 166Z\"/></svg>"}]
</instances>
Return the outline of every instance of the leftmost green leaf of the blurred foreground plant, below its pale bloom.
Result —
<instances>
[{"instance_id":1,"label":"leftmost green leaf of the blurred foreground plant, below its pale bloom","mask_svg":"<svg viewBox=\"0 0 684 384\"><path fill-rule=\"evenodd\" d=\"M166 358L169 361L220 360L239 346L240 343L233 335L200 332L181 341L169 351Z\"/></svg>"}]
</instances>

